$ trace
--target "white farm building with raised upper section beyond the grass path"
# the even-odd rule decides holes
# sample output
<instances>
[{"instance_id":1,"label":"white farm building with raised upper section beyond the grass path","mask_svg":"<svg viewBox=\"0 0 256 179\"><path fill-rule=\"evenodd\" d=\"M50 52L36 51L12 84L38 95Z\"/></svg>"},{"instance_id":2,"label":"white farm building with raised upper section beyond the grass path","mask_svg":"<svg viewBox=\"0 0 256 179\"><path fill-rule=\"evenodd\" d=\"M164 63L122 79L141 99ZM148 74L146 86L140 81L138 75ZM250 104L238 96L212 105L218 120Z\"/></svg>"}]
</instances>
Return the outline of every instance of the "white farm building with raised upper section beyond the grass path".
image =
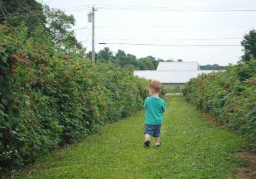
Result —
<instances>
[{"instance_id":1,"label":"white farm building with raised upper section beyond the grass path","mask_svg":"<svg viewBox=\"0 0 256 179\"><path fill-rule=\"evenodd\" d=\"M134 75L145 79L160 81L164 88L179 86L184 88L186 82L199 74L208 74L213 70L200 70L198 62L160 62L157 70L135 70Z\"/></svg>"}]
</instances>

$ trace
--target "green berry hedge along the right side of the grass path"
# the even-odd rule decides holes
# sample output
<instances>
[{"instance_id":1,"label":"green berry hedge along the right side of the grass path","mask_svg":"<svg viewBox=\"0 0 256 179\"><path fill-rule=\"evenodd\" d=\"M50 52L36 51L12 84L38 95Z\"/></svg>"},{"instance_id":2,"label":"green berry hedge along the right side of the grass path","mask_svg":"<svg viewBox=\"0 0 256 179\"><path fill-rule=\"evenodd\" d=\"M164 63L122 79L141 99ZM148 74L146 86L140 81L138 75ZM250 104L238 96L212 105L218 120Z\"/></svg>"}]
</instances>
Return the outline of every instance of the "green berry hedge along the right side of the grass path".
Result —
<instances>
[{"instance_id":1,"label":"green berry hedge along the right side of the grass path","mask_svg":"<svg viewBox=\"0 0 256 179\"><path fill-rule=\"evenodd\" d=\"M256 150L256 60L228 66L225 72L191 79L184 96L199 109L249 137Z\"/></svg>"}]
</instances>

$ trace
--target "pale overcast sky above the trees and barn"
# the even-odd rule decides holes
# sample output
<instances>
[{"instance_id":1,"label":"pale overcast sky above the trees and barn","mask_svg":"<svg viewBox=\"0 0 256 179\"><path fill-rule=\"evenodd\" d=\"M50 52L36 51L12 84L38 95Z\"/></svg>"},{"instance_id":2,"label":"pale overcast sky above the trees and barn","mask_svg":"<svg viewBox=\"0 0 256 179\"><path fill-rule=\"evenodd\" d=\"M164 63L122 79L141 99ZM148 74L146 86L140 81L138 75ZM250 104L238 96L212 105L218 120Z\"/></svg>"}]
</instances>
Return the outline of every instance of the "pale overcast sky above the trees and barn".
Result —
<instances>
[{"instance_id":1,"label":"pale overcast sky above the trees and barn","mask_svg":"<svg viewBox=\"0 0 256 179\"><path fill-rule=\"evenodd\" d=\"M39 0L38 0L39 1ZM198 61L200 65L236 64L241 40L256 28L255 0L42 0L50 8L74 15L76 37L92 51L92 23L87 14L95 5L95 51L109 47L137 58ZM225 11L220 11L225 10ZM82 28L82 29L81 29ZM101 43L132 43L128 45ZM238 46L175 46L238 45Z\"/></svg>"}]
</instances>

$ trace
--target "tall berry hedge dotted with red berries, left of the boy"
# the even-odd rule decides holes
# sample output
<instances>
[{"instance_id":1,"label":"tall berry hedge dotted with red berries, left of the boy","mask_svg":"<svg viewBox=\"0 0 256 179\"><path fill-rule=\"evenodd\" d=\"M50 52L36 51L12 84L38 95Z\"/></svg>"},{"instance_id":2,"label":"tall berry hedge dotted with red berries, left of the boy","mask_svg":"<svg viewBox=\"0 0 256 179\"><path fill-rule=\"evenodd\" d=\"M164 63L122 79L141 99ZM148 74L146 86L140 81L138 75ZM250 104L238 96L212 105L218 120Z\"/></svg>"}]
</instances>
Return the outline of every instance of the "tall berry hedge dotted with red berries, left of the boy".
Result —
<instances>
[{"instance_id":1,"label":"tall berry hedge dotted with red berries, left of the boy","mask_svg":"<svg viewBox=\"0 0 256 179\"><path fill-rule=\"evenodd\" d=\"M42 28L0 25L0 171L74 143L143 106L147 81L92 66Z\"/></svg>"}]
</instances>

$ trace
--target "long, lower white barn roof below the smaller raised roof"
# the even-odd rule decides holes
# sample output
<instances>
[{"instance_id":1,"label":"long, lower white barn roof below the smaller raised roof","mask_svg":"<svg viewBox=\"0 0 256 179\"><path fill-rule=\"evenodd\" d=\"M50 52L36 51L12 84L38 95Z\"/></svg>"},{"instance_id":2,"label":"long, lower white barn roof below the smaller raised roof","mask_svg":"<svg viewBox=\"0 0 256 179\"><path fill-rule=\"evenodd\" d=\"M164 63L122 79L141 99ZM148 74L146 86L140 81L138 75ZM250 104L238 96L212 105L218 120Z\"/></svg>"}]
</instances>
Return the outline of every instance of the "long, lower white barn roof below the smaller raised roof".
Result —
<instances>
[{"instance_id":1,"label":"long, lower white barn roof below the smaller raised roof","mask_svg":"<svg viewBox=\"0 0 256 179\"><path fill-rule=\"evenodd\" d=\"M199 74L209 74L213 70L186 70L186 71L155 71L155 70L136 70L134 75L145 79L156 79L161 83L180 84L186 83L191 78L197 77ZM215 71L216 72L216 71Z\"/></svg>"}]
</instances>

